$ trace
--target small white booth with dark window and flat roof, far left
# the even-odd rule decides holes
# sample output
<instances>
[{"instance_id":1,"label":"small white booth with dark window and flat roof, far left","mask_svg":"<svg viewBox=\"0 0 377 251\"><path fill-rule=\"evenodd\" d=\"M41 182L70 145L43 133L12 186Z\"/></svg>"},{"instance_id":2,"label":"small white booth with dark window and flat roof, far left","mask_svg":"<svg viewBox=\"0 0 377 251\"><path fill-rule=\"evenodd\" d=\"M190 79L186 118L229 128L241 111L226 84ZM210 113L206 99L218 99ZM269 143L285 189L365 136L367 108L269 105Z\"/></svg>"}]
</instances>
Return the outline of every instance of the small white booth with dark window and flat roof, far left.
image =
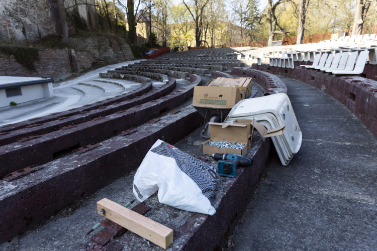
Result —
<instances>
[{"instance_id":1,"label":"small white booth with dark window and flat roof, far left","mask_svg":"<svg viewBox=\"0 0 377 251\"><path fill-rule=\"evenodd\" d=\"M0 76L0 107L54 96L52 78Z\"/></svg>"}]
</instances>

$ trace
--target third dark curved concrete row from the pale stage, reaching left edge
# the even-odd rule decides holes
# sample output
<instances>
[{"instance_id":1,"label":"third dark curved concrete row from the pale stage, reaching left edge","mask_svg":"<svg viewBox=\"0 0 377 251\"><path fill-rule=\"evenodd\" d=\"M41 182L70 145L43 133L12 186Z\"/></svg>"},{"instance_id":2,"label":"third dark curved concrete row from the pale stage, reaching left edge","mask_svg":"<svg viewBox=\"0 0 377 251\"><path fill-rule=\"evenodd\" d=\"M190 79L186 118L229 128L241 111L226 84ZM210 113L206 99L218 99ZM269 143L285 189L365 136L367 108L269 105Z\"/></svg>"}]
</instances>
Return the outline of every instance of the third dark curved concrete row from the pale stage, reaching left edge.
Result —
<instances>
[{"instance_id":1,"label":"third dark curved concrete row from the pale stage, reaching left edge","mask_svg":"<svg viewBox=\"0 0 377 251\"><path fill-rule=\"evenodd\" d=\"M114 137L121 131L138 126L183 103L192 97L193 89L194 86L190 84L179 92L172 92L170 95L116 113L93 117L91 120L78 123L75 127L3 146L0 153L0 176L28 166L44 164L80 147Z\"/></svg>"}]
</instances>

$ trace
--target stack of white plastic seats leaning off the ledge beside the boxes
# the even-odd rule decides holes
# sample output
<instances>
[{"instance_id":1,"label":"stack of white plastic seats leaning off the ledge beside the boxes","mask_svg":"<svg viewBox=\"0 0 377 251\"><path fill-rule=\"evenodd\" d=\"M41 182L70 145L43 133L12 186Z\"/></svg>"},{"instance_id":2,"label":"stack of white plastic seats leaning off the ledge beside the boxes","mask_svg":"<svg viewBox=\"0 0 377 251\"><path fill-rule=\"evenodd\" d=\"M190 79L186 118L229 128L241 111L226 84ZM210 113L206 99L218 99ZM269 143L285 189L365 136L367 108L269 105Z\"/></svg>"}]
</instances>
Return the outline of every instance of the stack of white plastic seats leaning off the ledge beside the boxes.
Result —
<instances>
[{"instance_id":1,"label":"stack of white plastic seats leaning off the ledge beside the boxes","mask_svg":"<svg viewBox=\"0 0 377 251\"><path fill-rule=\"evenodd\" d=\"M264 97L239 101L225 118L225 122L235 119L255 119L267 130L285 126L280 136L271 137L283 166L287 166L300 150L302 133L287 94L277 93Z\"/></svg>"}]
</instances>

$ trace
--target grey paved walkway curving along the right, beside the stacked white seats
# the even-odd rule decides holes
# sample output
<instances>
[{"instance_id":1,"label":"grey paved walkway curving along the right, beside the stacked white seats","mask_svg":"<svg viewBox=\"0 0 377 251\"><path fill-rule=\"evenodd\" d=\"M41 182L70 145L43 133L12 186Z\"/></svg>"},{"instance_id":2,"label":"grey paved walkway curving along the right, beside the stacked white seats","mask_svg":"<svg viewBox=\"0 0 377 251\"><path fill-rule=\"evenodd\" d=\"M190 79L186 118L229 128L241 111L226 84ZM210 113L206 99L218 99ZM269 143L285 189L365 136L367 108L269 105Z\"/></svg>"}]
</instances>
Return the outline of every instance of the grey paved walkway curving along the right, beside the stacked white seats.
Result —
<instances>
[{"instance_id":1,"label":"grey paved walkway curving along the right, beside the stacked white seats","mask_svg":"<svg viewBox=\"0 0 377 251\"><path fill-rule=\"evenodd\" d=\"M303 143L287 167L270 154L235 250L377 250L377 141L331 96L281 79Z\"/></svg>"}]
</instances>

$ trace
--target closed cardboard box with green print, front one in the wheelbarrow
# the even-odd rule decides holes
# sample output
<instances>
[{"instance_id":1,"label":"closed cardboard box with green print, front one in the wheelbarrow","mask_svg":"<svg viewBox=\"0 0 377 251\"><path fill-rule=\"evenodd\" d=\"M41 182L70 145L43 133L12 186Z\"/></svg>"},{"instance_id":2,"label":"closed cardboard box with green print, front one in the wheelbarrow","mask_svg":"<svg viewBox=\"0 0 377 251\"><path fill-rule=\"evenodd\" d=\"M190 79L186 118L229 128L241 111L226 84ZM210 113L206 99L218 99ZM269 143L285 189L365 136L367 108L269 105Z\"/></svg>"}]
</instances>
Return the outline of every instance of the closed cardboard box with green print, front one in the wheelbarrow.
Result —
<instances>
[{"instance_id":1,"label":"closed cardboard box with green print, front one in the wheelbarrow","mask_svg":"<svg viewBox=\"0 0 377 251\"><path fill-rule=\"evenodd\" d=\"M233 108L245 98L245 92L237 87L195 86L193 106L207 108Z\"/></svg>"}]
</instances>

